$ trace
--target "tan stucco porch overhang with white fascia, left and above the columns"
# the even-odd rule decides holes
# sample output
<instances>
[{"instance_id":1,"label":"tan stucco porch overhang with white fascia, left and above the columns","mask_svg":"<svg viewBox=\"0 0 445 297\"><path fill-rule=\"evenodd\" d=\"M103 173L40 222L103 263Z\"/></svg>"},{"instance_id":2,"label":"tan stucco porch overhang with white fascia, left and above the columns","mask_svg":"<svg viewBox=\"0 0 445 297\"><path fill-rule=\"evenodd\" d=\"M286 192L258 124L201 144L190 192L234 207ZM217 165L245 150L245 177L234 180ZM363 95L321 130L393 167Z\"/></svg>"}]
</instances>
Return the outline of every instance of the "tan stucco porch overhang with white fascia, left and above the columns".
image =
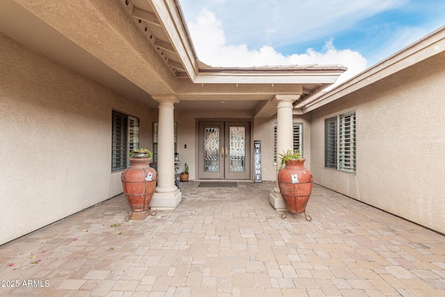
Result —
<instances>
[{"instance_id":1,"label":"tan stucco porch overhang with white fascia, left and above the columns","mask_svg":"<svg viewBox=\"0 0 445 297\"><path fill-rule=\"evenodd\" d=\"M173 93L184 101L178 109L255 109L276 94L317 93L346 70L339 65L210 67L197 60L177 1L17 3L3 0L0 31L152 108L157 103L151 94ZM212 101L218 104L206 103Z\"/></svg>"}]
</instances>

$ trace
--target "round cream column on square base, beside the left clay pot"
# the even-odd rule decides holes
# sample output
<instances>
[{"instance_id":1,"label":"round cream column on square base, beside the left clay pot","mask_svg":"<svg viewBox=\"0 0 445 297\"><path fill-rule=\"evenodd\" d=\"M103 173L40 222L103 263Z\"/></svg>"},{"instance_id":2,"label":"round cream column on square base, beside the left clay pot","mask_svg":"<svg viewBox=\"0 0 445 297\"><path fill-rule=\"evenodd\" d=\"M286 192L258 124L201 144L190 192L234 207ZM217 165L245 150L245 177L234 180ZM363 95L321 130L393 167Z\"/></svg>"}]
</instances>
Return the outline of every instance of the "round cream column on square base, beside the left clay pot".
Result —
<instances>
[{"instance_id":1,"label":"round cream column on square base, beside the left clay pot","mask_svg":"<svg viewBox=\"0 0 445 297\"><path fill-rule=\"evenodd\" d=\"M175 186L175 95L152 95L159 102L158 118L158 182L150 207L175 209L181 202L181 192Z\"/></svg>"}]
</instances>

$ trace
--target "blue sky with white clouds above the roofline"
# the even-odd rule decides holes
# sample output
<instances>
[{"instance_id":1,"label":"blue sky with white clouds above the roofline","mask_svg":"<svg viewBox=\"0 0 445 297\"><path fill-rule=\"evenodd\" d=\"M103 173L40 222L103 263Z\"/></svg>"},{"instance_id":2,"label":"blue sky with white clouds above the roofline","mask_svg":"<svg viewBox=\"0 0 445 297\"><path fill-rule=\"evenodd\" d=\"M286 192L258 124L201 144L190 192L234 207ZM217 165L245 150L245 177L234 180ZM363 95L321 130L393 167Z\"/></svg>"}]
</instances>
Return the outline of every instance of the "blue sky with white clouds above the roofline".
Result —
<instances>
[{"instance_id":1,"label":"blue sky with white clouds above the roofline","mask_svg":"<svg viewBox=\"0 0 445 297\"><path fill-rule=\"evenodd\" d=\"M207 65L345 65L336 85L445 25L444 0L179 3Z\"/></svg>"}]
</instances>

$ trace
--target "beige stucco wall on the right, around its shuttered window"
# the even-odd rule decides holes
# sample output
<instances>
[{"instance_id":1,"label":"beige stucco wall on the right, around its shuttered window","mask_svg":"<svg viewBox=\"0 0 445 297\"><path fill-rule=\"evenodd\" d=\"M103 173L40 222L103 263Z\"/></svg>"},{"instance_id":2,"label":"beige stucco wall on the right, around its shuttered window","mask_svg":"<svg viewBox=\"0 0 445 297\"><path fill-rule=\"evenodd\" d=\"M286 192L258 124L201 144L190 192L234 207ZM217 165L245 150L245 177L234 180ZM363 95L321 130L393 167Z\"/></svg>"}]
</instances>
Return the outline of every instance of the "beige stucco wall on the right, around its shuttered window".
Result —
<instances>
[{"instance_id":1,"label":"beige stucco wall on the right, around its shuttered window","mask_svg":"<svg viewBox=\"0 0 445 297\"><path fill-rule=\"evenodd\" d=\"M442 53L312 111L314 182L445 233L444 81ZM357 172L325 169L324 120L353 110Z\"/></svg>"}]
</instances>

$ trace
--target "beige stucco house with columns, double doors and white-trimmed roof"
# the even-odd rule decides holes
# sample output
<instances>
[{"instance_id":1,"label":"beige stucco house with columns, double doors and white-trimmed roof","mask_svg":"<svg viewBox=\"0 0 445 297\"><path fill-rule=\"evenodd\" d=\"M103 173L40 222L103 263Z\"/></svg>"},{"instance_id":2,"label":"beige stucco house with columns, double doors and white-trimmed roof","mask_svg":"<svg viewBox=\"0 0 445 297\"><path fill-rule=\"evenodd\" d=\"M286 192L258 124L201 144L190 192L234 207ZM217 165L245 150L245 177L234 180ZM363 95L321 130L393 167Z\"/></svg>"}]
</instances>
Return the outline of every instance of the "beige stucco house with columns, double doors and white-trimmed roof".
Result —
<instances>
[{"instance_id":1,"label":"beige stucco house with columns, double doors and white-trimmed roof","mask_svg":"<svg viewBox=\"0 0 445 297\"><path fill-rule=\"evenodd\" d=\"M275 181L298 149L316 184L445 233L444 27L323 92L346 67L202 63L175 0L1 6L0 244L122 193L136 147L158 162L156 209L181 202L185 162Z\"/></svg>"}]
</instances>

